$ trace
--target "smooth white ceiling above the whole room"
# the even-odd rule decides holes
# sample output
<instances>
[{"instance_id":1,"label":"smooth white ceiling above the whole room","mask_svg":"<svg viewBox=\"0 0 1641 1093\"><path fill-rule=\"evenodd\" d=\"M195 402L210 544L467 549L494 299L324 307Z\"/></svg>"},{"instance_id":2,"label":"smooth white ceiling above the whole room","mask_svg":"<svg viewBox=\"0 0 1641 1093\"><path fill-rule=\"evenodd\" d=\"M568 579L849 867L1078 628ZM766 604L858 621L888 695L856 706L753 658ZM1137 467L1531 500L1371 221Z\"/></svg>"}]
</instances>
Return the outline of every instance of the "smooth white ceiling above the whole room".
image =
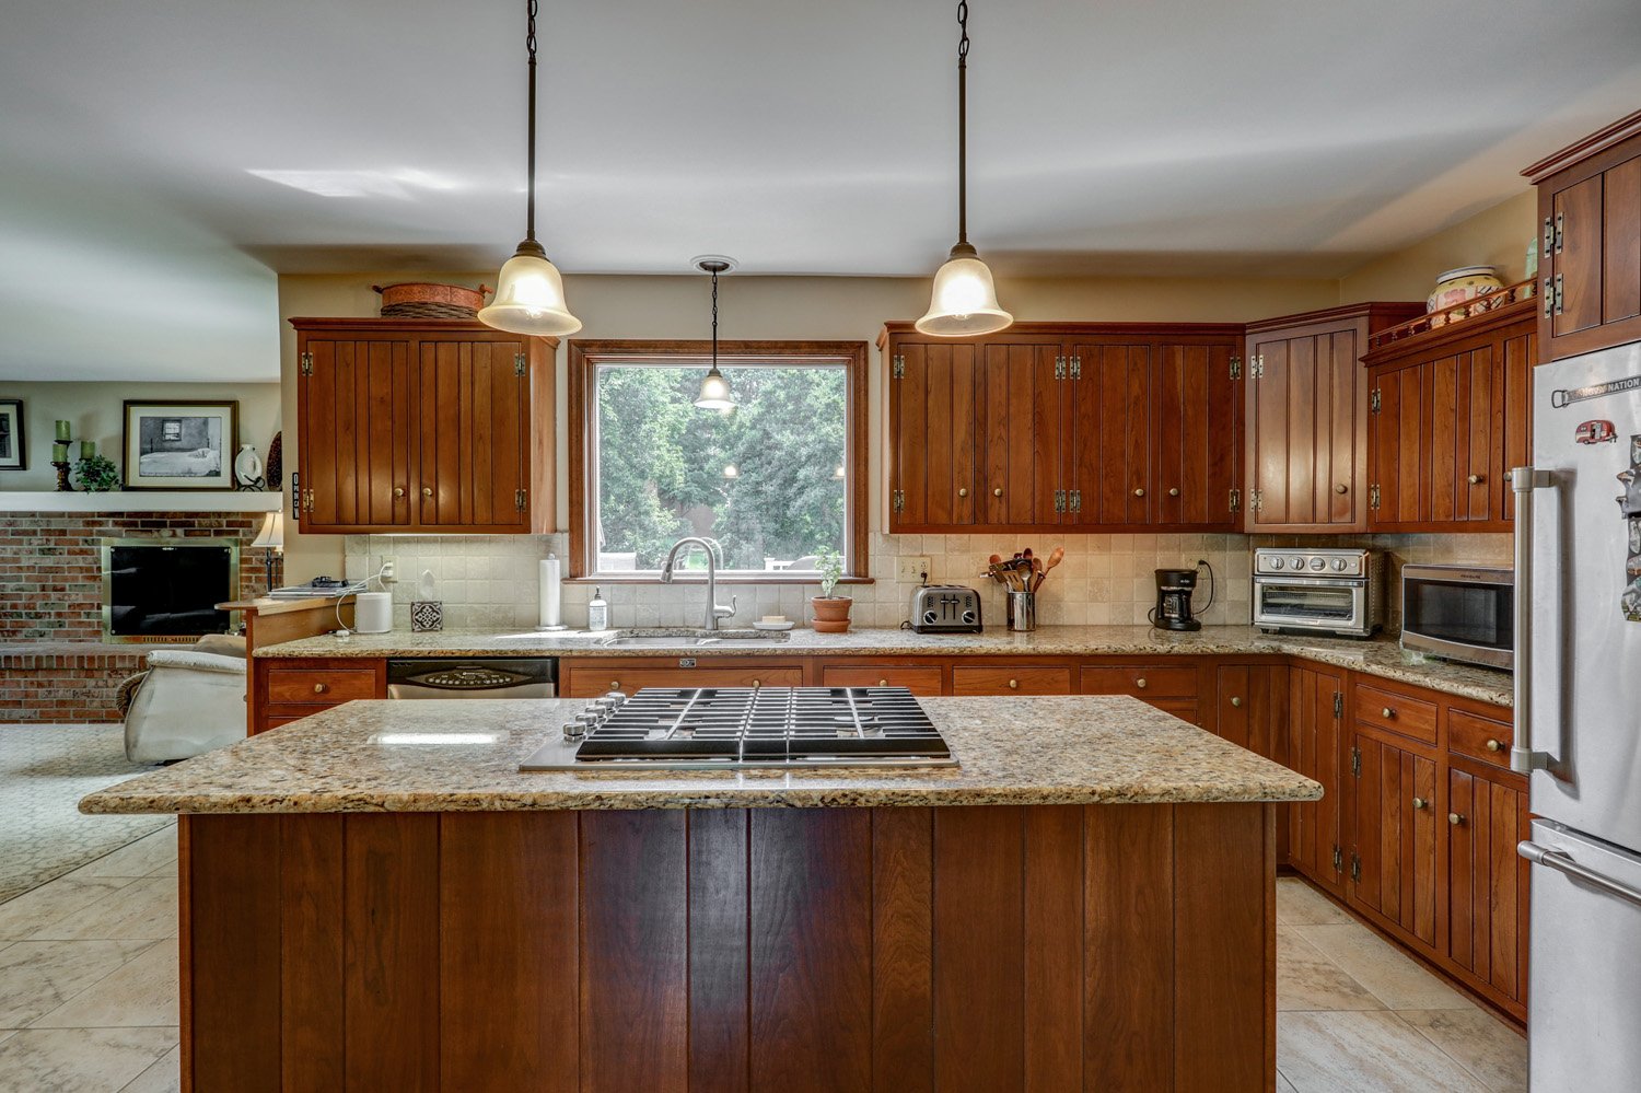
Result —
<instances>
[{"instance_id":1,"label":"smooth white ceiling above the whole room","mask_svg":"<svg viewBox=\"0 0 1641 1093\"><path fill-rule=\"evenodd\" d=\"M971 7L970 225L1003 274L1341 276L1641 105L1636 0ZM953 236L953 11L545 0L550 254L927 274ZM269 269L497 264L523 222L522 21L519 0L7 0L0 377L44 377L64 323L267 376Z\"/></svg>"}]
</instances>

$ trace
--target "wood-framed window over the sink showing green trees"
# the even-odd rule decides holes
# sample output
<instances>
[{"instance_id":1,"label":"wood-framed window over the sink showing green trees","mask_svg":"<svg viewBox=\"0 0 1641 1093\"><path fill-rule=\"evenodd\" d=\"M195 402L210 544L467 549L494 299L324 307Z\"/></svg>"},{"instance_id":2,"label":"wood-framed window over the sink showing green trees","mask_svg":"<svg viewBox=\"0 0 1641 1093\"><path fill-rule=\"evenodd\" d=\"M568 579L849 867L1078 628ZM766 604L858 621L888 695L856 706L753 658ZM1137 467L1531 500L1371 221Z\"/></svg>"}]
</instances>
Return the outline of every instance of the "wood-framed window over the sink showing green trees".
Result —
<instances>
[{"instance_id":1,"label":"wood-framed window over the sink showing green trees","mask_svg":"<svg viewBox=\"0 0 1641 1093\"><path fill-rule=\"evenodd\" d=\"M865 576L866 345L720 341L730 410L694 405L709 364L706 341L569 343L571 574L656 579L697 535L730 581L816 581L825 551Z\"/></svg>"}]
</instances>

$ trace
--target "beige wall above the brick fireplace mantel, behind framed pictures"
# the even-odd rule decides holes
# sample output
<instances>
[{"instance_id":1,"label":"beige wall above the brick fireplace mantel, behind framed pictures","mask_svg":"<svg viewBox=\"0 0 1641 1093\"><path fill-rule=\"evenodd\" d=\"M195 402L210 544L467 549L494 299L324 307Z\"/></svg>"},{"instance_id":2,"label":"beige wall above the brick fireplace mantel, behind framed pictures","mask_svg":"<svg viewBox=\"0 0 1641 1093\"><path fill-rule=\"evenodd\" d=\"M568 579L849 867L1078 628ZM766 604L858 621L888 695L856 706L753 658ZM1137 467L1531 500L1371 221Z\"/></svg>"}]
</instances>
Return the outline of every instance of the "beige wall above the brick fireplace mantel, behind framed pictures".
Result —
<instances>
[{"instance_id":1,"label":"beige wall above the brick fireplace mantel, behind framed pictures","mask_svg":"<svg viewBox=\"0 0 1641 1093\"><path fill-rule=\"evenodd\" d=\"M23 399L28 433L28 469L0 471L0 489L53 489L57 471L51 466L54 423L74 423L75 440L95 440L97 451L125 466L120 451L123 404L126 399L169 402L176 399L238 399L240 443L256 445L267 455L267 441L279 428L279 384L126 384L126 382L0 382L0 399ZM69 453L79 458L79 445Z\"/></svg>"}]
</instances>

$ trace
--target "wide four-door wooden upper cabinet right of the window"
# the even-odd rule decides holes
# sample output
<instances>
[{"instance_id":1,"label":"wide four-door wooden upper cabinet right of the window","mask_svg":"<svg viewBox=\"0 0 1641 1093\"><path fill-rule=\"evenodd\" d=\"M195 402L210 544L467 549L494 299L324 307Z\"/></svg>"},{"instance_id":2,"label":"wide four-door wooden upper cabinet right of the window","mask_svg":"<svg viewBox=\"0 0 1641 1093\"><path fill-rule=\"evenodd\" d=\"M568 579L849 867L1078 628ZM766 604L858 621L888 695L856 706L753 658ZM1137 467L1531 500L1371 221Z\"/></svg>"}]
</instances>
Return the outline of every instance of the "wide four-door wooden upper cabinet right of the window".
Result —
<instances>
[{"instance_id":1,"label":"wide four-door wooden upper cabinet right of the window","mask_svg":"<svg viewBox=\"0 0 1641 1093\"><path fill-rule=\"evenodd\" d=\"M1237 530L1241 327L889 323L889 532Z\"/></svg>"}]
</instances>

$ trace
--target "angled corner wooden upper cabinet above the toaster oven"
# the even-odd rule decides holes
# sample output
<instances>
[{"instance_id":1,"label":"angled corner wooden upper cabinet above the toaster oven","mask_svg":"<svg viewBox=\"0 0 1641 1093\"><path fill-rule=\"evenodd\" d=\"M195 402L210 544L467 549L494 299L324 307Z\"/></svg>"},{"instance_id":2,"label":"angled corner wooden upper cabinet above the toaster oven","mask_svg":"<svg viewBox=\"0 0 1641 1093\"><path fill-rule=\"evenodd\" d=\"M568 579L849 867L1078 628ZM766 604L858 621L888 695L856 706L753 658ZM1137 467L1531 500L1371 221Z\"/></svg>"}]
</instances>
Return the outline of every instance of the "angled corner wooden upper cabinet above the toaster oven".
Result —
<instances>
[{"instance_id":1,"label":"angled corner wooden upper cabinet above the toaster oven","mask_svg":"<svg viewBox=\"0 0 1641 1093\"><path fill-rule=\"evenodd\" d=\"M1370 335L1423 304L1354 304L1247 327L1249 532L1367 530Z\"/></svg>"}]
</instances>

